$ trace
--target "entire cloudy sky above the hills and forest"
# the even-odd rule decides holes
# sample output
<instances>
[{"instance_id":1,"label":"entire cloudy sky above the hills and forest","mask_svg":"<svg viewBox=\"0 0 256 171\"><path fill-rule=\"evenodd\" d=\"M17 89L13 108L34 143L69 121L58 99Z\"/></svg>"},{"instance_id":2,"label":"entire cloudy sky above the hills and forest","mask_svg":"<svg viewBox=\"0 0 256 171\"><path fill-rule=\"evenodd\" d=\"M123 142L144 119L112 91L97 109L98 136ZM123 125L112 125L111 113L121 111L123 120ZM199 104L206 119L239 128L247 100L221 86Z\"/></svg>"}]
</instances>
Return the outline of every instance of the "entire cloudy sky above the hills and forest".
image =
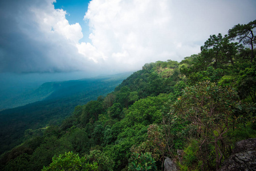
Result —
<instances>
[{"instance_id":1,"label":"entire cloudy sky above the hills and forest","mask_svg":"<svg viewBox=\"0 0 256 171\"><path fill-rule=\"evenodd\" d=\"M0 74L116 74L198 54L255 0L0 1Z\"/></svg>"}]
</instances>

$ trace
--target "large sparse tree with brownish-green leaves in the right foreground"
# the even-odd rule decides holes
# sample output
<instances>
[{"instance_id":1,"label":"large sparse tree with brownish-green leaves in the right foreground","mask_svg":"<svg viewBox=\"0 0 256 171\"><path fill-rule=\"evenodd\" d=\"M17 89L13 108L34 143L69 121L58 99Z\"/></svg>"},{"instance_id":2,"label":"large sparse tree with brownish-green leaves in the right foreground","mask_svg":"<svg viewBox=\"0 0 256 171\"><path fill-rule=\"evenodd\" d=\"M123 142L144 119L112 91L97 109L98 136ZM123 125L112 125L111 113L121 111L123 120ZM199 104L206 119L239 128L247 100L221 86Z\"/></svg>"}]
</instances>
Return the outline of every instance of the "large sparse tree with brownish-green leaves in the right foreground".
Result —
<instances>
[{"instance_id":1,"label":"large sparse tree with brownish-green leaves in the right foreground","mask_svg":"<svg viewBox=\"0 0 256 171\"><path fill-rule=\"evenodd\" d=\"M186 87L183 95L173 104L172 115L189 121L188 127L196 130L200 139L200 150L205 146L203 159L210 153L209 144L214 144L216 170L225 151L225 134L235 123L235 111L241 108L234 89L222 88L216 83L202 82ZM208 148L208 149L207 149ZM208 163L210 161L205 161Z\"/></svg>"}]
</instances>

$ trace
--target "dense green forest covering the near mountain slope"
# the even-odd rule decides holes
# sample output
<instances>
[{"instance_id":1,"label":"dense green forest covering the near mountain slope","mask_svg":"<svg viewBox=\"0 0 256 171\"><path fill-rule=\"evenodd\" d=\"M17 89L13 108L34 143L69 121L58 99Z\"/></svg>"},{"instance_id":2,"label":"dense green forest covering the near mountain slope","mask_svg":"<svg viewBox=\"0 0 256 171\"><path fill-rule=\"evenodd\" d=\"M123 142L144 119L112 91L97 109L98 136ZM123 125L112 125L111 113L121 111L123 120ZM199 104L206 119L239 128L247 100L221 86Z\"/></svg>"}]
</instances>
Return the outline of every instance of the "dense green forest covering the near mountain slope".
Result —
<instances>
[{"instance_id":1,"label":"dense green forest covering the near mountain slope","mask_svg":"<svg viewBox=\"0 0 256 171\"><path fill-rule=\"evenodd\" d=\"M218 170L256 137L256 20L210 35L200 54L147 63L61 124L27 129L0 170ZM178 151L182 150L182 162Z\"/></svg>"}]
</instances>

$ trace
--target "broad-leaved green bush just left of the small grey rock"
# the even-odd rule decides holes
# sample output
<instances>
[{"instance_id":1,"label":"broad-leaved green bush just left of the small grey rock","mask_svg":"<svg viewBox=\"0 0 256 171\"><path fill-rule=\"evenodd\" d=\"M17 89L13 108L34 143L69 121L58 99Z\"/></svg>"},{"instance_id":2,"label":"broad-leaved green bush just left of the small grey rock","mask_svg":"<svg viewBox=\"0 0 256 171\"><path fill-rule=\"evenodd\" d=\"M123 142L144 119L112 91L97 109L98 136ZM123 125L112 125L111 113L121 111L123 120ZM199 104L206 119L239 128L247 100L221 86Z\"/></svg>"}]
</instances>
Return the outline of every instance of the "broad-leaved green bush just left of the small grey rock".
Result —
<instances>
[{"instance_id":1,"label":"broad-leaved green bush just left of the small grey rock","mask_svg":"<svg viewBox=\"0 0 256 171\"><path fill-rule=\"evenodd\" d=\"M157 170L154 158L151 153L132 153L129 159L128 170Z\"/></svg>"}]
</instances>

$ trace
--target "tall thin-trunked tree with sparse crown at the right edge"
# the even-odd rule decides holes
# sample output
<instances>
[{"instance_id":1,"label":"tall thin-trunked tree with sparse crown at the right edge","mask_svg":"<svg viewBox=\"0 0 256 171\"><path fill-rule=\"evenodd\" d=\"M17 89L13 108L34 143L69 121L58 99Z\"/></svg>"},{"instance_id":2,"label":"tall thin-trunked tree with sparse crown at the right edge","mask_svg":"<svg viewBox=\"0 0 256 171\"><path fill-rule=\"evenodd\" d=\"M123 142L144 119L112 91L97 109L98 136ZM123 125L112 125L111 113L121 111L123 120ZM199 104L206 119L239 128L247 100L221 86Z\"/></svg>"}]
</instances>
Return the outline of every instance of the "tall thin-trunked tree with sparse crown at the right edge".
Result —
<instances>
[{"instance_id":1,"label":"tall thin-trunked tree with sparse crown at the right edge","mask_svg":"<svg viewBox=\"0 0 256 171\"><path fill-rule=\"evenodd\" d=\"M256 36L254 35L254 28L256 27L256 20L249 22L247 25L235 25L229 30L229 38L234 40L235 38L239 43L250 45L251 47L251 63L254 59L254 44L256 43Z\"/></svg>"}]
</instances>

